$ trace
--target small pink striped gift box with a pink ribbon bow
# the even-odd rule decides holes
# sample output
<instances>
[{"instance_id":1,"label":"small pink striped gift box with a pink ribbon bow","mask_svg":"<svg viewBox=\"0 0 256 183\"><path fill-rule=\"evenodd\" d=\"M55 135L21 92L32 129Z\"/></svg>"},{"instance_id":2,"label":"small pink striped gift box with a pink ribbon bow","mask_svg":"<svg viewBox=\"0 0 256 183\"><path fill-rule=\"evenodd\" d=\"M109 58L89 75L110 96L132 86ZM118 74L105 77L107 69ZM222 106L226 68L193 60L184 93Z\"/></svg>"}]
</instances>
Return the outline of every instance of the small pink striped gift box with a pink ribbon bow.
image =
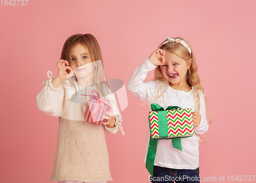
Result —
<instances>
[{"instance_id":1,"label":"small pink striped gift box with a pink ribbon bow","mask_svg":"<svg viewBox=\"0 0 256 183\"><path fill-rule=\"evenodd\" d=\"M102 116L104 116L105 112L110 112L112 110L110 100L105 98L100 98L99 92L97 90L92 91L92 95L84 95L90 96L90 100L88 101L86 112L84 114L84 120L103 125L101 122L106 122Z\"/></svg>"}]
</instances>

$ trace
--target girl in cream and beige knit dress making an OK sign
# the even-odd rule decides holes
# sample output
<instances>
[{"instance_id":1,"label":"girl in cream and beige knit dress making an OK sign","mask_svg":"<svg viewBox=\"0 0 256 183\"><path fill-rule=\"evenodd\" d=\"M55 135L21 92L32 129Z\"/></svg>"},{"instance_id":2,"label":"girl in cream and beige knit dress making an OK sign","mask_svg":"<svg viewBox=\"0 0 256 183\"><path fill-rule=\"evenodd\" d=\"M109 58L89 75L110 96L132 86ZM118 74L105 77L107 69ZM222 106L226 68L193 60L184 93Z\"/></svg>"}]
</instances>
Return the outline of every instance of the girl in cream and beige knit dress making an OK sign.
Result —
<instances>
[{"instance_id":1,"label":"girl in cream and beige knit dress making an OK sign","mask_svg":"<svg viewBox=\"0 0 256 183\"><path fill-rule=\"evenodd\" d=\"M37 107L59 117L54 169L50 180L61 183L106 182L112 180L105 132L121 129L114 95L105 76L99 44L92 34L76 34L67 39L57 62L58 73L45 82L37 95ZM49 76L50 77L50 76ZM97 90L109 99L102 125L84 121L90 96ZM87 95L87 96L84 96ZM123 133L124 134L124 133Z\"/></svg>"}]
</instances>

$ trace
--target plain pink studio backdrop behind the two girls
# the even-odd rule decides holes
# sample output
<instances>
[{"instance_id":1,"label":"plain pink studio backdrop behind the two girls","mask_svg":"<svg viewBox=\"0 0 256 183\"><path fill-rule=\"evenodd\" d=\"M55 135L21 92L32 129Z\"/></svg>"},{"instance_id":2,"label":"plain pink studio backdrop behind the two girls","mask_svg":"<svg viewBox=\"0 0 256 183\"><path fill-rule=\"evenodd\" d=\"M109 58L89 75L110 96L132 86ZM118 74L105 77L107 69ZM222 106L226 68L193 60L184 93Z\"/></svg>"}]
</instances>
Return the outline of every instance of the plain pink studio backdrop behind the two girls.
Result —
<instances>
[{"instance_id":1,"label":"plain pink studio backdrop behind the two girls","mask_svg":"<svg viewBox=\"0 0 256 183\"><path fill-rule=\"evenodd\" d=\"M165 37L185 38L212 119L200 144L201 178L255 175L255 1L56 2L0 6L2 182L51 182L58 118L36 108L36 95L48 70L56 76L62 45L77 33L97 38L108 79L125 85ZM148 108L129 91L127 97L125 136L106 135L113 183L149 182Z\"/></svg>"}]
</instances>

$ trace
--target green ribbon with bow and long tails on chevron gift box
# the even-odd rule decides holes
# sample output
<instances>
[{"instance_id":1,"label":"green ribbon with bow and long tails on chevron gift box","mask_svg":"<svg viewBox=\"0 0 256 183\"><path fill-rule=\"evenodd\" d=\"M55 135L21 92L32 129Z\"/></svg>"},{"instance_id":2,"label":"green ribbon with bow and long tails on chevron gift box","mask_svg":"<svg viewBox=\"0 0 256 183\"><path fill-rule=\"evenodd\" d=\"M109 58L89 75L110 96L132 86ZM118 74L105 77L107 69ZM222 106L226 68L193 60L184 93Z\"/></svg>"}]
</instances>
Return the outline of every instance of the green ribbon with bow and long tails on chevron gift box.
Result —
<instances>
[{"instance_id":1,"label":"green ribbon with bow and long tails on chevron gift box","mask_svg":"<svg viewBox=\"0 0 256 183\"><path fill-rule=\"evenodd\" d=\"M166 110L164 110L157 103L152 103L151 109L152 111L159 111L158 119L161 119L161 120L158 120L159 137L161 137L162 139L165 139L165 137L168 137L166 110L176 110L176 109L182 109L182 108L178 106L168 106ZM150 122L150 116L148 116L148 121ZM172 139L173 147L181 151L182 151L182 146L181 146L180 139L182 138L187 138L187 137L175 137L175 139L174 138ZM146 156L146 169L152 176L153 176L153 168L154 168L154 163L156 158L157 142L158 142L158 139L152 139L152 136L150 136L150 143L148 144L148 150L147 150L147 156Z\"/></svg>"}]
</instances>

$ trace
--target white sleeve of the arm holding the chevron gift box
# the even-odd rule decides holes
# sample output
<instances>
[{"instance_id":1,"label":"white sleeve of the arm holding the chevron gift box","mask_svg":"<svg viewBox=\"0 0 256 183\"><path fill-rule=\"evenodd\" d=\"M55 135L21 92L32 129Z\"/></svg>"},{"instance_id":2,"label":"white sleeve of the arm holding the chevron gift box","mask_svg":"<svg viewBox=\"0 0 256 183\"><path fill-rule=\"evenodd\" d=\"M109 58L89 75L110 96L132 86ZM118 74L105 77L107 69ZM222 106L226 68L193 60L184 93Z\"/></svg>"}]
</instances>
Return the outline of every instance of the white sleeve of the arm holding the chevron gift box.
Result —
<instances>
[{"instance_id":1,"label":"white sleeve of the arm holding the chevron gift box","mask_svg":"<svg viewBox=\"0 0 256 183\"><path fill-rule=\"evenodd\" d=\"M206 108L205 108L205 100L204 100L204 94L200 91L200 112L201 115L201 122L199 126L195 126L195 133L198 135L203 135L207 132L209 128L209 124L206 119Z\"/></svg>"}]
</instances>

